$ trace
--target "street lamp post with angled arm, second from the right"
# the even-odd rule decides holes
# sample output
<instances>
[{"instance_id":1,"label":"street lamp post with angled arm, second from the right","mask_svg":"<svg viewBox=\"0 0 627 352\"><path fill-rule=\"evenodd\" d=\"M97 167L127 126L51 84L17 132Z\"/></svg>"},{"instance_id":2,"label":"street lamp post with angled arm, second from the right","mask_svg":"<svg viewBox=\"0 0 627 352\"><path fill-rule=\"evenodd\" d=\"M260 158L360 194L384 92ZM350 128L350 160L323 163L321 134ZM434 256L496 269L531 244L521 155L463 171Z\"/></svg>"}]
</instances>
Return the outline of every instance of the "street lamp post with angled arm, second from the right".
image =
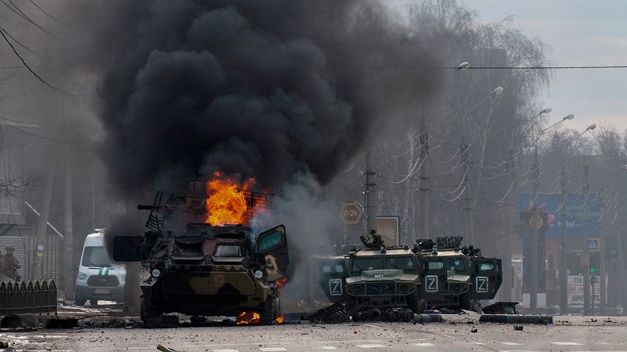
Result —
<instances>
[{"instance_id":1,"label":"street lamp post with angled arm, second from the right","mask_svg":"<svg viewBox=\"0 0 627 352\"><path fill-rule=\"evenodd\" d=\"M540 188L540 164L538 163L538 139L547 130L559 125L566 120L572 120L575 115L570 114L564 116L561 120L555 122L553 125L541 130L535 136L534 149L533 149L533 199L531 201L531 236L529 239L529 256L531 257L531 287L529 297L529 307L532 313L538 309L538 207L535 206L535 201L538 199L538 188Z\"/></svg>"}]
</instances>

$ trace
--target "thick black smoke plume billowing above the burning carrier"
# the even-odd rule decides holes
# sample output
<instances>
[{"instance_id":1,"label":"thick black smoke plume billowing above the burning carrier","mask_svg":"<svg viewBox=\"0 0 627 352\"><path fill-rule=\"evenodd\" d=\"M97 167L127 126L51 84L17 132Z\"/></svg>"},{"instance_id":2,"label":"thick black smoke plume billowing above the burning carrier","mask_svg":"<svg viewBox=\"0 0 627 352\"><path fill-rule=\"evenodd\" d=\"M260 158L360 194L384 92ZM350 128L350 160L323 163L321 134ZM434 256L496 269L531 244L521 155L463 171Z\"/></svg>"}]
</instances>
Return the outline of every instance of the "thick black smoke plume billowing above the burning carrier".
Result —
<instances>
[{"instance_id":1,"label":"thick black smoke plume billowing above the burning carrier","mask_svg":"<svg viewBox=\"0 0 627 352\"><path fill-rule=\"evenodd\" d=\"M101 6L114 18L95 48L110 63L101 152L127 195L215 170L324 184L437 90L433 70L403 69L436 66L435 39L375 1Z\"/></svg>"}]
</instances>

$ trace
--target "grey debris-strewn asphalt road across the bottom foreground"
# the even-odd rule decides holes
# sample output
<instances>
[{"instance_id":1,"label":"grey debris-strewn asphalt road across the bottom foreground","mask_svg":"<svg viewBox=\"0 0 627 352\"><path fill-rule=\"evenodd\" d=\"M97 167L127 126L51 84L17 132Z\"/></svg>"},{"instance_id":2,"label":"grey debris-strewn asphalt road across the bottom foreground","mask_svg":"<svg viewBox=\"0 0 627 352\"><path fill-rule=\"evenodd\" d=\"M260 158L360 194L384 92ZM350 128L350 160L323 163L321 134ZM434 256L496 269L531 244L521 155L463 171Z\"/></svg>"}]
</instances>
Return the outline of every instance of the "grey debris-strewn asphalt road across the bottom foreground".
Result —
<instances>
[{"instance_id":1,"label":"grey debris-strewn asphalt road across the bottom foreground","mask_svg":"<svg viewBox=\"0 0 627 352\"><path fill-rule=\"evenodd\" d=\"M627 318L555 317L553 325L478 323L477 315L447 322L341 325L73 329L0 332L16 351L627 351ZM591 319L597 321L591 321ZM468 324L470 322L470 324ZM476 327L476 333L471 329Z\"/></svg>"}]
</instances>

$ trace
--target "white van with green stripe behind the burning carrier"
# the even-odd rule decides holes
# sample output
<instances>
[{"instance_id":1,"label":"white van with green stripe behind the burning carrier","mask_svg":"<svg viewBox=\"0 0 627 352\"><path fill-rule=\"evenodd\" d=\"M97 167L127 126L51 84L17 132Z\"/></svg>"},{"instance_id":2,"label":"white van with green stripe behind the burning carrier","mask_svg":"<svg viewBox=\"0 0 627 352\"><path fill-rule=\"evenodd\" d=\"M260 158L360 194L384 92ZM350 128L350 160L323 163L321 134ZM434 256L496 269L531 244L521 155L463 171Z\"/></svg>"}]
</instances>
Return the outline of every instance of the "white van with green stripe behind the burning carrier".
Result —
<instances>
[{"instance_id":1,"label":"white van with green stripe behind the burning carrier","mask_svg":"<svg viewBox=\"0 0 627 352\"><path fill-rule=\"evenodd\" d=\"M125 266L111 263L106 251L104 230L97 229L93 234L88 234L82 246L74 288L76 305L83 306L88 300L92 306L97 305L99 300L121 303L125 281Z\"/></svg>"}]
</instances>

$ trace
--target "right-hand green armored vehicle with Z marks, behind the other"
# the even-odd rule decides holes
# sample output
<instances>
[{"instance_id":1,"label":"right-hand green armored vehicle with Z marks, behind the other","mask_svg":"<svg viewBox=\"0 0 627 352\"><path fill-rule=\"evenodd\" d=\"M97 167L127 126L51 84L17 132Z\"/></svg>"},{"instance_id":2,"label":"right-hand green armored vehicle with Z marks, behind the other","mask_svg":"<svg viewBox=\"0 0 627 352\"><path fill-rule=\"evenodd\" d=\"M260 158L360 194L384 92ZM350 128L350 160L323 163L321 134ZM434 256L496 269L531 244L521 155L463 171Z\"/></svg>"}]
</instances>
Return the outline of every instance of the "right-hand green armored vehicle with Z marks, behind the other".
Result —
<instances>
[{"instance_id":1,"label":"right-hand green armored vehicle with Z marks, behind the other","mask_svg":"<svg viewBox=\"0 0 627 352\"><path fill-rule=\"evenodd\" d=\"M473 246L460 248L461 240L417 240L423 263L421 296L428 307L475 310L479 300L494 298L501 286L501 260L485 258Z\"/></svg>"}]
</instances>

